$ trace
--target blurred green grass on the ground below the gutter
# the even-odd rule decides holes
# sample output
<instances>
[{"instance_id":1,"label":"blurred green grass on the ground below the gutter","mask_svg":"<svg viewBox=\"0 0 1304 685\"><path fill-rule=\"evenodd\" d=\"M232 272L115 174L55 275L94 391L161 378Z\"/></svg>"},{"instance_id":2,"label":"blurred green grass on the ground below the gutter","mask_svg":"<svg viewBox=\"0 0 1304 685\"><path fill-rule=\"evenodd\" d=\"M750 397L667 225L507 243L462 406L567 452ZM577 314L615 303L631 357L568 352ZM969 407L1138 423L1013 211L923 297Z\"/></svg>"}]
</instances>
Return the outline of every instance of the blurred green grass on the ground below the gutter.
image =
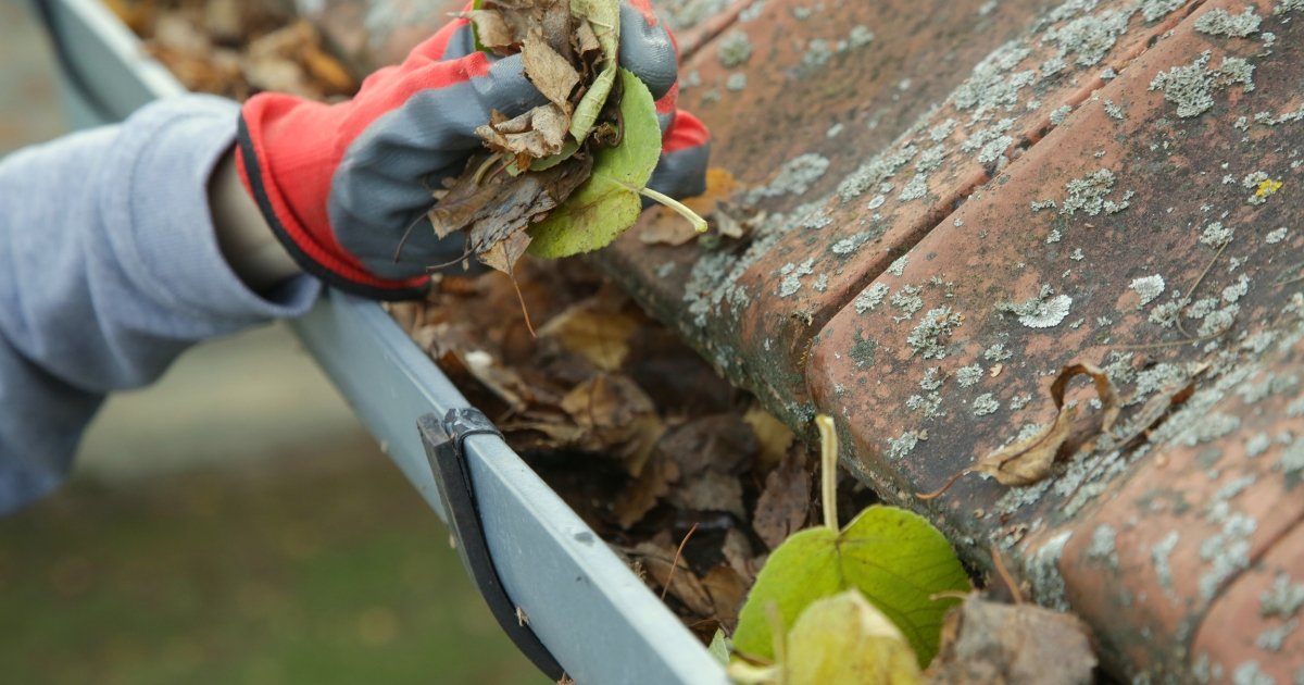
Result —
<instances>
[{"instance_id":1,"label":"blurred green grass on the ground below the gutter","mask_svg":"<svg viewBox=\"0 0 1304 685\"><path fill-rule=\"evenodd\" d=\"M8 682L548 682L385 459L106 488L0 519Z\"/></svg>"}]
</instances>

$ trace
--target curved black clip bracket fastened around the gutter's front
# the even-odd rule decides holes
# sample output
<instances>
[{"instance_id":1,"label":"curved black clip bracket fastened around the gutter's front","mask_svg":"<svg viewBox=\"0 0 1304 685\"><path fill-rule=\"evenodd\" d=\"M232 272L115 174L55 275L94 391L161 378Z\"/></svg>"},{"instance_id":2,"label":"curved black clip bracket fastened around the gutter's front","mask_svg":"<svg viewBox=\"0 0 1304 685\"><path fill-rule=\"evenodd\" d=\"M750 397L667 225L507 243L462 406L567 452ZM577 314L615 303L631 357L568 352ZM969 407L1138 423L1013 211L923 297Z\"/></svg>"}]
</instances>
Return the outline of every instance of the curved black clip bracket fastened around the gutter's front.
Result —
<instances>
[{"instance_id":1,"label":"curved black clip bracket fastened around the gutter's front","mask_svg":"<svg viewBox=\"0 0 1304 685\"><path fill-rule=\"evenodd\" d=\"M439 487L439 498L443 500L447 523L452 530L462 564L480 588L480 595L489 604L489 611L498 620L498 625L516 643L516 648L548 677L559 681L565 671L522 617L516 603L507 596L480 523L480 509L476 505L476 491L471 483L464 442L471 436L492 434L501 438L502 433L475 407L449 410L443 419L433 412L426 414L416 423L426 458L430 459L434 481Z\"/></svg>"}]
</instances>

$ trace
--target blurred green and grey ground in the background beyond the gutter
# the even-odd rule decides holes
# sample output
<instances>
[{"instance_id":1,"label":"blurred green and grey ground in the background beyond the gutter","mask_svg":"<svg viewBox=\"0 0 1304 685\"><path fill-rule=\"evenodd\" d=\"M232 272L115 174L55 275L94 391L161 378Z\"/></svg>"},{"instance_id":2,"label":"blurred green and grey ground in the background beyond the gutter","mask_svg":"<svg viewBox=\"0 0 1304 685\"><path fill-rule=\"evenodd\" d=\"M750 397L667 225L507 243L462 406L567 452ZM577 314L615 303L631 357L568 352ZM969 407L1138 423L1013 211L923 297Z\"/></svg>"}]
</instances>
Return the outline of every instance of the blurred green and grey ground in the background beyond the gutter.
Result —
<instances>
[{"instance_id":1,"label":"blurred green and grey ground in the background beyond the gutter","mask_svg":"<svg viewBox=\"0 0 1304 685\"><path fill-rule=\"evenodd\" d=\"M65 121L27 3L0 3L0 155ZM0 519L0 680L546 682L283 326L113 397L72 483Z\"/></svg>"}]
</instances>

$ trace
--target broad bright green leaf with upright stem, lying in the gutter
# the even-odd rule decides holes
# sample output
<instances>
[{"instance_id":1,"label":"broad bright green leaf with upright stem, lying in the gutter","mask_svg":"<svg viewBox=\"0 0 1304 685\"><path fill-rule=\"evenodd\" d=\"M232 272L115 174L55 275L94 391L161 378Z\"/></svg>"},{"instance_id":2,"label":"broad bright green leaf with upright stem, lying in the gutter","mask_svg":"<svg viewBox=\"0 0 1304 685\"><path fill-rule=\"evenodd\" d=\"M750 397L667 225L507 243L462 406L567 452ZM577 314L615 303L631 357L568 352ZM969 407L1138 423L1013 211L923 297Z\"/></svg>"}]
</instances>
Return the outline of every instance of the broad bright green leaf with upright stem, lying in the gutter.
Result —
<instances>
[{"instance_id":1,"label":"broad bright green leaf with upright stem, lying in the gutter","mask_svg":"<svg viewBox=\"0 0 1304 685\"><path fill-rule=\"evenodd\" d=\"M921 667L938 652L941 618L958 601L931 595L970 590L941 532L910 511L875 505L840 532L805 530L775 549L738 615L734 650L773 659L767 605L790 626L812 601L853 587L896 624Z\"/></svg>"}]
</instances>

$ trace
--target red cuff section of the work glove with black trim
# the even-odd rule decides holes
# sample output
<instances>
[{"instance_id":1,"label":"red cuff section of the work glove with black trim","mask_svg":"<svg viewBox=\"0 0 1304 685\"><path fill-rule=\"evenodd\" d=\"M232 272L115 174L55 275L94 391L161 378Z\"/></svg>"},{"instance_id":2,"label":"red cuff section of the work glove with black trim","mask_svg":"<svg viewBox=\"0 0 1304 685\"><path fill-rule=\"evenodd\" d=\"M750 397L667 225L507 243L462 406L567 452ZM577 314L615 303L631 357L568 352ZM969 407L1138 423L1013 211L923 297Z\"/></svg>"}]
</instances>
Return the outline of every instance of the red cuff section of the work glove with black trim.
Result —
<instances>
[{"instance_id":1,"label":"red cuff section of the work glove with black trim","mask_svg":"<svg viewBox=\"0 0 1304 685\"><path fill-rule=\"evenodd\" d=\"M236 168L273 234L304 271L331 287L377 300L420 297L430 278L383 279L363 267L335 240L326 198L331 174L343 155L330 130L331 110L288 95L263 93L240 112ZM269 141L271 138L271 141ZM269 145L271 142L271 145ZM292 179L284 187L278 179Z\"/></svg>"}]
</instances>

